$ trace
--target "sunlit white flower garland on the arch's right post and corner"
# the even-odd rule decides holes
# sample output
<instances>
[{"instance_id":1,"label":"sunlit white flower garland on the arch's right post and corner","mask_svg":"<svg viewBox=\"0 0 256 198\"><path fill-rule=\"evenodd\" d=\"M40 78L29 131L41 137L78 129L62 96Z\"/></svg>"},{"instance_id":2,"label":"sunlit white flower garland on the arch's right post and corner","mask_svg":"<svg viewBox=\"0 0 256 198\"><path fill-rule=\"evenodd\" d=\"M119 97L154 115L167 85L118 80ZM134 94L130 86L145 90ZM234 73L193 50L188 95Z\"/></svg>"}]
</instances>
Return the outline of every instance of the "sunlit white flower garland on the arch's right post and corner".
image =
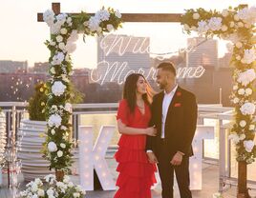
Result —
<instances>
[{"instance_id":1,"label":"sunlit white flower garland on the arch's right post and corner","mask_svg":"<svg viewBox=\"0 0 256 198\"><path fill-rule=\"evenodd\" d=\"M230 97L235 105L235 124L229 138L236 145L237 161L246 164L254 162L256 157L256 101L252 97L256 79L255 23L256 8L243 5L223 11L186 10L181 17L181 24L186 33L190 34L194 30L206 38L216 35L231 42L231 64L235 69Z\"/></svg>"}]
</instances>

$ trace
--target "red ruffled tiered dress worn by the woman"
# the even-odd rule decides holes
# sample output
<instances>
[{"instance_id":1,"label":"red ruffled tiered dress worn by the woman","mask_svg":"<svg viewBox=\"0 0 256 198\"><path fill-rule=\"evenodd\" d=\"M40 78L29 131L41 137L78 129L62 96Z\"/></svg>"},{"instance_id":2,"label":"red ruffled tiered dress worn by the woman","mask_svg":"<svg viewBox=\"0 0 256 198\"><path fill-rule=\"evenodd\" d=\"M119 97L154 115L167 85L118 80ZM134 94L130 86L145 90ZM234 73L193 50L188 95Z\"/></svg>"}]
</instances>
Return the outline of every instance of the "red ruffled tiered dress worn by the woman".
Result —
<instances>
[{"instance_id":1,"label":"red ruffled tiered dress worn by the woman","mask_svg":"<svg viewBox=\"0 0 256 198\"><path fill-rule=\"evenodd\" d=\"M150 108L145 104L145 113L139 107L131 113L125 99L119 102L117 120L131 128L145 129L151 118ZM117 193L114 198L151 198L151 186L156 183L156 165L150 164L145 152L146 135L122 134L115 154L119 172Z\"/></svg>"}]
</instances>

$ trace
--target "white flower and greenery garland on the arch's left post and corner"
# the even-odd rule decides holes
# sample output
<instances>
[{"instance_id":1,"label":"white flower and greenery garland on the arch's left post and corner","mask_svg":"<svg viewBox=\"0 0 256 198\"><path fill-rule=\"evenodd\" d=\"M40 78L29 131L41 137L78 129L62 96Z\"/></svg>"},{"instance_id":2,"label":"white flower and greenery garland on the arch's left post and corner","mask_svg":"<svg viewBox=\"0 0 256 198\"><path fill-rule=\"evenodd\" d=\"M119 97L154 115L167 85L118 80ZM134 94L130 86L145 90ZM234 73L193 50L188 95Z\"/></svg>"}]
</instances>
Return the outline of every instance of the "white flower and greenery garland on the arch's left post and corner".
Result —
<instances>
[{"instance_id":1,"label":"white flower and greenery garland on the arch's left post and corner","mask_svg":"<svg viewBox=\"0 0 256 198\"><path fill-rule=\"evenodd\" d=\"M51 30L51 39L45 42L51 50L51 79L47 83L48 132L44 156L51 162L50 168L68 171L72 164L70 149L73 146L69 138L72 113L70 75L71 53L75 51L75 41L78 33L83 34L85 39L87 35L101 36L104 32L117 30L121 27L121 14L118 10L104 8L98 10L94 16L83 11L77 15L56 15L53 10L46 10L43 18Z\"/></svg>"}]
</instances>

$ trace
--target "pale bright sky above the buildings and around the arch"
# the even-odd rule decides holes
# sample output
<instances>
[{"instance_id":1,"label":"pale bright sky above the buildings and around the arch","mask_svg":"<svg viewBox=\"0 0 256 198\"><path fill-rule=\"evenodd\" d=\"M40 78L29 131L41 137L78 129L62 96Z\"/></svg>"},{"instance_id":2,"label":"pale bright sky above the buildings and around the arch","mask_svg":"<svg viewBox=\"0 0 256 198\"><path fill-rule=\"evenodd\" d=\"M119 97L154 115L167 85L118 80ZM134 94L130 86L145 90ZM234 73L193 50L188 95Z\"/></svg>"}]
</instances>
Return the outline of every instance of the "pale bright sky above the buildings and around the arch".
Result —
<instances>
[{"instance_id":1,"label":"pale bright sky above the buildings and around the arch","mask_svg":"<svg viewBox=\"0 0 256 198\"><path fill-rule=\"evenodd\" d=\"M51 9L50 0L0 0L0 60L45 62L49 58L49 50L44 45L49 38L49 28L45 23L36 21L36 13ZM112 7L123 12L169 12L182 13L187 9L202 7L206 10L224 10L228 6L239 4L255 6L255 0L59 0L62 12L79 12L80 10L95 12L102 6ZM187 36L182 34L179 23L127 23L122 33L135 36L149 36L151 52L175 51L186 46ZM177 39L179 37L179 39ZM220 56L224 55L225 44L220 43ZM93 52L92 52L93 51ZM86 44L79 39L73 54L75 68L96 68L96 38L86 38Z\"/></svg>"}]
</instances>

